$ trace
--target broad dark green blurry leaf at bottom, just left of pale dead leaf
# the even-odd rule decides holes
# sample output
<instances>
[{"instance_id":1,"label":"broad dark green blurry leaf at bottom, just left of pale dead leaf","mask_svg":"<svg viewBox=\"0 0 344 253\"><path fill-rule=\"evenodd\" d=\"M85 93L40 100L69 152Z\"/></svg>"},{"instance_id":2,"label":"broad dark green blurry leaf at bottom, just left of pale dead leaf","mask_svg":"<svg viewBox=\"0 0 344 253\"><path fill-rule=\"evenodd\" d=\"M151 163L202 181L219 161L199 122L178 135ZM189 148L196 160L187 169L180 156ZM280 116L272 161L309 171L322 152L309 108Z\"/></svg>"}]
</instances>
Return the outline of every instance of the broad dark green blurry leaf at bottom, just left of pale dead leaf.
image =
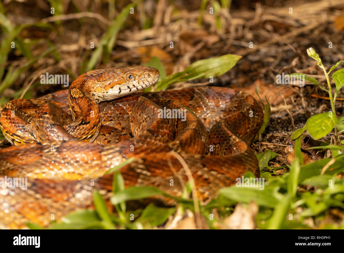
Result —
<instances>
[{"instance_id":1,"label":"broad dark green blurry leaf at bottom, just left of pale dead leaf","mask_svg":"<svg viewBox=\"0 0 344 253\"><path fill-rule=\"evenodd\" d=\"M158 226L162 223L164 223L170 215L172 215L175 212L175 208L162 208L162 207L156 207L154 204L149 204L147 207L143 210L140 217L135 221L141 223L144 228L146 227L145 224L149 224L148 228L151 228L153 226Z\"/></svg>"}]
</instances>

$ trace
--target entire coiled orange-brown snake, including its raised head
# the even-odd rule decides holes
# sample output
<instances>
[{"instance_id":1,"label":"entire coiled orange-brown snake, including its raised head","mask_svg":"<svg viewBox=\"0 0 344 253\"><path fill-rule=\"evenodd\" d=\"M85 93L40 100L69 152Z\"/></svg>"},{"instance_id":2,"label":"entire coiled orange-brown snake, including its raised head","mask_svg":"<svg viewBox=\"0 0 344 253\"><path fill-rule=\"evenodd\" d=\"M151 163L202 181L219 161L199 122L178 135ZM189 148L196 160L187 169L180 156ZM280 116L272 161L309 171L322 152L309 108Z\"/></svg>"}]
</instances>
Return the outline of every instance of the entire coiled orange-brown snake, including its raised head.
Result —
<instances>
[{"instance_id":1,"label":"entire coiled orange-brown snake, including its raised head","mask_svg":"<svg viewBox=\"0 0 344 253\"><path fill-rule=\"evenodd\" d=\"M51 214L60 220L89 208L93 189L111 194L112 175L104 173L131 157L120 169L126 187L181 196L192 176L202 203L247 171L258 177L249 148L263 116L255 99L222 87L129 95L159 76L145 66L94 70L69 90L4 105L0 128L14 146L0 149L0 182L28 183L0 186L0 228L47 226Z\"/></svg>"}]
</instances>

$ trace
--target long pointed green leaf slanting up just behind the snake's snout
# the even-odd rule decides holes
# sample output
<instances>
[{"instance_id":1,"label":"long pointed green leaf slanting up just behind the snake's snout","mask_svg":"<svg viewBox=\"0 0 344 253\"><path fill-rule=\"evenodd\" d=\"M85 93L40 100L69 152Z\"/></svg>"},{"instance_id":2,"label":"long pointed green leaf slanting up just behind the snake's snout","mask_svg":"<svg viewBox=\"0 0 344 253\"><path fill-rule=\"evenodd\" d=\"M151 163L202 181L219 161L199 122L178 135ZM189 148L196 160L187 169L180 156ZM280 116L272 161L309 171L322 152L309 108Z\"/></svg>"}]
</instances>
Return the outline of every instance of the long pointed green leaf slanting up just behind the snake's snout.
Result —
<instances>
[{"instance_id":1,"label":"long pointed green leaf slanting up just behind the snake's snout","mask_svg":"<svg viewBox=\"0 0 344 253\"><path fill-rule=\"evenodd\" d=\"M165 90L173 83L222 75L234 67L240 58L240 55L225 54L219 57L194 62L183 72L167 76L158 85L156 85L156 90Z\"/></svg>"}]
</instances>

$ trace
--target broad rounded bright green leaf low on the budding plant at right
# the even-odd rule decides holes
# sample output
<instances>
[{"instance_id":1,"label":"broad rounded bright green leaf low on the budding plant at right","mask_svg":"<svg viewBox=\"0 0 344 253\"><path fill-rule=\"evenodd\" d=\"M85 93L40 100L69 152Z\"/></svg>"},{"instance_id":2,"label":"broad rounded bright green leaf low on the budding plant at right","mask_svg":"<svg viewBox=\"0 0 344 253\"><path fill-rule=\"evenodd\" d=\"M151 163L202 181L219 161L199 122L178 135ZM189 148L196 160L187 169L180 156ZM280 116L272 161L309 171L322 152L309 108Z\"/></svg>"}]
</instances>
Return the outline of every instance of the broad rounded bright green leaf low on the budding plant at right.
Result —
<instances>
[{"instance_id":1,"label":"broad rounded bright green leaf low on the budding plant at right","mask_svg":"<svg viewBox=\"0 0 344 253\"><path fill-rule=\"evenodd\" d=\"M330 113L320 113L307 120L306 128L312 138L318 140L330 133L337 123L338 119L333 115L330 117Z\"/></svg>"}]
</instances>

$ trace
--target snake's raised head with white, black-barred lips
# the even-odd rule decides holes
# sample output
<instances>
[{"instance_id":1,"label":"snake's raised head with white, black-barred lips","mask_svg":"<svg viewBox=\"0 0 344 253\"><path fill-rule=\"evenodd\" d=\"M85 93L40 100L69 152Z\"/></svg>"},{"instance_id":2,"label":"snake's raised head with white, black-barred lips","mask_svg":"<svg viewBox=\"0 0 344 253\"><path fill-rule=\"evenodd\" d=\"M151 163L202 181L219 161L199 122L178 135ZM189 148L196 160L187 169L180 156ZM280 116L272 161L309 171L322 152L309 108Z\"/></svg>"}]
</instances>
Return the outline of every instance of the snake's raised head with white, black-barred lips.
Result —
<instances>
[{"instance_id":1,"label":"snake's raised head with white, black-barred lips","mask_svg":"<svg viewBox=\"0 0 344 253\"><path fill-rule=\"evenodd\" d=\"M83 90L92 95L96 101L102 102L150 87L158 81L159 76L160 73L156 68L139 65L92 70L78 78L82 79L79 81Z\"/></svg>"}]
</instances>

